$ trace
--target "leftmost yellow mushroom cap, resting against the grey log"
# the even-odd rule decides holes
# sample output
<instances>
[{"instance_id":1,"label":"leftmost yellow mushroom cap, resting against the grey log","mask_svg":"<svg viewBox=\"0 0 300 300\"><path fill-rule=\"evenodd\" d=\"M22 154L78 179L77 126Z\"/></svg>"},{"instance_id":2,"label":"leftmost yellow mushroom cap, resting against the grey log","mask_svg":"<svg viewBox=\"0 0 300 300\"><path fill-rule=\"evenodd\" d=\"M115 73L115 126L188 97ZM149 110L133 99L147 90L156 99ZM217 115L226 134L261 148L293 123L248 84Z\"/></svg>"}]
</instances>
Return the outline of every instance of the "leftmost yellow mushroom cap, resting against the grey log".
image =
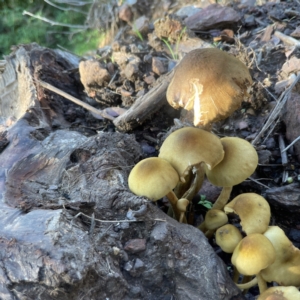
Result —
<instances>
[{"instance_id":1,"label":"leftmost yellow mushroom cap, resting against the grey log","mask_svg":"<svg viewBox=\"0 0 300 300\"><path fill-rule=\"evenodd\" d=\"M150 157L141 160L128 177L129 189L138 196L156 201L166 196L178 183L179 176L166 160Z\"/></svg>"}]
</instances>

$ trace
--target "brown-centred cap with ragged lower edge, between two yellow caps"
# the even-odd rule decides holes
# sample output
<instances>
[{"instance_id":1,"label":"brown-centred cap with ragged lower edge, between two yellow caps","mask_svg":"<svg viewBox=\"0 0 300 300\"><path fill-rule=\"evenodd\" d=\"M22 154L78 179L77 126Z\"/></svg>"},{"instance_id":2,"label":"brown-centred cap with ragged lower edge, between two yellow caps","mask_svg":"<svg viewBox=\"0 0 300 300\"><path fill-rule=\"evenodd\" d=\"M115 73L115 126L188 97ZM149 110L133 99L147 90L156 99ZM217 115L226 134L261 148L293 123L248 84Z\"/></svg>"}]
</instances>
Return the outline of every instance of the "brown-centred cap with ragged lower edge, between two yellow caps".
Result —
<instances>
[{"instance_id":1,"label":"brown-centred cap with ragged lower edge, between two yellow caps","mask_svg":"<svg viewBox=\"0 0 300 300\"><path fill-rule=\"evenodd\" d=\"M169 161L181 177L189 167L201 162L205 162L208 169L214 168L223 159L224 150L216 135L203 129L184 127L165 139L159 157Z\"/></svg>"}]
</instances>

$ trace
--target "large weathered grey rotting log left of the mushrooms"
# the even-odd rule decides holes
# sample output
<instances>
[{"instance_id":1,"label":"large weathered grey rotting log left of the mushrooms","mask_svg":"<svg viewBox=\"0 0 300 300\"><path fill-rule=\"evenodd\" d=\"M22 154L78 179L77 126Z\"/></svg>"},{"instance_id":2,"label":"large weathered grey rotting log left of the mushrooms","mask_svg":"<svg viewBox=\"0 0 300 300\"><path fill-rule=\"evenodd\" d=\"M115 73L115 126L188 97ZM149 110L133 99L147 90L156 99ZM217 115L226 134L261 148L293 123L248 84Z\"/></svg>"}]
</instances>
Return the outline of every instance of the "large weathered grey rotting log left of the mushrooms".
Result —
<instances>
[{"instance_id":1,"label":"large weathered grey rotting log left of the mushrooms","mask_svg":"<svg viewBox=\"0 0 300 300\"><path fill-rule=\"evenodd\" d=\"M0 128L0 299L244 299L197 228L128 190L134 135L71 130L74 104L35 86L80 97L70 60L37 45L7 59L18 76L2 115L15 123ZM137 238L144 249L124 247Z\"/></svg>"}]
</instances>

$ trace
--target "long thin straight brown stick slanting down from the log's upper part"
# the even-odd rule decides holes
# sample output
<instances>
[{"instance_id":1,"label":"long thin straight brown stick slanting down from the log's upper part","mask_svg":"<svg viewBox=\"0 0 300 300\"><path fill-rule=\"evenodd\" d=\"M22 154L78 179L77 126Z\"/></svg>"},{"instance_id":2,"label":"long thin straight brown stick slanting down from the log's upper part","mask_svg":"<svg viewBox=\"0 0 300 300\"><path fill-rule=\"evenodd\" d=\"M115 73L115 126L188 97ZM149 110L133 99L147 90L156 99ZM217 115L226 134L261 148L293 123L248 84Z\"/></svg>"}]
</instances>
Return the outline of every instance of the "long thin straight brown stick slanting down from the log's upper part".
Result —
<instances>
[{"instance_id":1,"label":"long thin straight brown stick slanting down from the log's upper part","mask_svg":"<svg viewBox=\"0 0 300 300\"><path fill-rule=\"evenodd\" d=\"M96 109L95 107L69 95L68 93L54 87L53 85L47 83L47 82L44 82L44 81L40 81L40 80L36 80L37 83L39 83L42 87L52 91L52 92L55 92L56 94L60 95L60 96L63 96L65 97L66 99L76 103L77 105L87 109L88 111L94 113L95 115L97 116L100 116L102 118L106 118L106 119L109 119L111 121L113 121L115 118L110 116L109 114L107 114L104 110L99 110L99 109Z\"/></svg>"}]
</instances>

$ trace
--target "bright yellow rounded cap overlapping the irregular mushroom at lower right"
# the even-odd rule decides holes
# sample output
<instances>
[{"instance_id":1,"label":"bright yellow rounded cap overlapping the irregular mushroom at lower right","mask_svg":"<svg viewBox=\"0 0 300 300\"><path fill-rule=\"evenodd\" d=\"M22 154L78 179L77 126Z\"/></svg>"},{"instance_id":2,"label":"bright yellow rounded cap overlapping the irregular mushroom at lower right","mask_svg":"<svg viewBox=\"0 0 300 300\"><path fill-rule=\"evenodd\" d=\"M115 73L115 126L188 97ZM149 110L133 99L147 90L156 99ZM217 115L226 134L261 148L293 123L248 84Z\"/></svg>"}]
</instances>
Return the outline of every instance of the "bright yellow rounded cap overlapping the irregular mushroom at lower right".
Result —
<instances>
[{"instance_id":1,"label":"bright yellow rounded cap overlapping the irregular mushroom at lower right","mask_svg":"<svg viewBox=\"0 0 300 300\"><path fill-rule=\"evenodd\" d=\"M272 243L260 233L244 237L233 251L231 262L243 275L256 275L275 261Z\"/></svg>"}]
</instances>

